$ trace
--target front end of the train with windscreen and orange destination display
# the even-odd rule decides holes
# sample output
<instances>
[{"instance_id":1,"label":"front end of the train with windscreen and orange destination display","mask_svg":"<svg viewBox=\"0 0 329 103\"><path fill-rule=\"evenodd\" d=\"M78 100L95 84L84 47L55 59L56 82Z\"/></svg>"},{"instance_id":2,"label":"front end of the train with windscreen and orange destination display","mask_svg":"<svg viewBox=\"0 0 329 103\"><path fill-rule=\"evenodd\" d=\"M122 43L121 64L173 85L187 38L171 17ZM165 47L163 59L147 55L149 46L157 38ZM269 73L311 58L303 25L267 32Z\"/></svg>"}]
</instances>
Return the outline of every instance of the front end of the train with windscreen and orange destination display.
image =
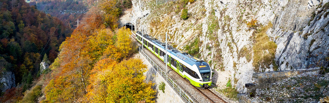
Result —
<instances>
[{"instance_id":1,"label":"front end of the train with windscreen and orange destination display","mask_svg":"<svg viewBox=\"0 0 329 103\"><path fill-rule=\"evenodd\" d=\"M201 78L199 81L200 84L199 86L204 87L204 88L209 88L209 86L211 86L211 79L212 79L212 70L210 68L210 66L208 65L208 63L206 62L199 62L197 63L197 67L199 69Z\"/></svg>"}]
</instances>

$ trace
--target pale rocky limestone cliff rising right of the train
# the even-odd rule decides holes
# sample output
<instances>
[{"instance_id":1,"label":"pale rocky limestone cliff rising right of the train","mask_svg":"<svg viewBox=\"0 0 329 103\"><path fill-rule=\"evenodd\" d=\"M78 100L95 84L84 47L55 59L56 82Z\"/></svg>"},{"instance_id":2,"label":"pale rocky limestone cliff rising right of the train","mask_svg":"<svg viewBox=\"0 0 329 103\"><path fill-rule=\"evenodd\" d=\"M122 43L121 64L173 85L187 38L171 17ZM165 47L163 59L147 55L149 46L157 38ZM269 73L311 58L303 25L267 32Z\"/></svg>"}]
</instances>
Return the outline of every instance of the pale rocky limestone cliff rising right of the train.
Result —
<instances>
[{"instance_id":1,"label":"pale rocky limestone cliff rising right of the train","mask_svg":"<svg viewBox=\"0 0 329 103\"><path fill-rule=\"evenodd\" d=\"M328 0L132 2L137 30L160 40L168 32L178 49L197 51L194 56L209 62L219 87L221 78L230 78L242 93L244 84L254 81L252 73L307 68L328 60ZM183 9L188 10L187 20L180 17Z\"/></svg>"}]
</instances>

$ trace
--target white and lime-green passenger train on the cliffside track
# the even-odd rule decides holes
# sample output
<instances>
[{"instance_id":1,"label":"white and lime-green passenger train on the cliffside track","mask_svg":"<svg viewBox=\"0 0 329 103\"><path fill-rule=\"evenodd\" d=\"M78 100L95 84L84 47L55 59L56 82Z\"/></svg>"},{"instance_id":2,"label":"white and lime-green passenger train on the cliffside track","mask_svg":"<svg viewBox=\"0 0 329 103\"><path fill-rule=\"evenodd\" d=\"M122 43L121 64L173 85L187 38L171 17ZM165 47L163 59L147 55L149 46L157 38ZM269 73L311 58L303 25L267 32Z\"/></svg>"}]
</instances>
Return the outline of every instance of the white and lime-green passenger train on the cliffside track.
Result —
<instances>
[{"instance_id":1,"label":"white and lime-green passenger train on the cliffside track","mask_svg":"<svg viewBox=\"0 0 329 103\"><path fill-rule=\"evenodd\" d=\"M146 49L151 51L160 60L164 61L165 43L147 34L137 31L136 39ZM143 42L143 43L142 43ZM212 84L212 69L205 61L186 52L182 52L171 45L167 45L166 65L177 72L193 86L209 88Z\"/></svg>"}]
</instances>

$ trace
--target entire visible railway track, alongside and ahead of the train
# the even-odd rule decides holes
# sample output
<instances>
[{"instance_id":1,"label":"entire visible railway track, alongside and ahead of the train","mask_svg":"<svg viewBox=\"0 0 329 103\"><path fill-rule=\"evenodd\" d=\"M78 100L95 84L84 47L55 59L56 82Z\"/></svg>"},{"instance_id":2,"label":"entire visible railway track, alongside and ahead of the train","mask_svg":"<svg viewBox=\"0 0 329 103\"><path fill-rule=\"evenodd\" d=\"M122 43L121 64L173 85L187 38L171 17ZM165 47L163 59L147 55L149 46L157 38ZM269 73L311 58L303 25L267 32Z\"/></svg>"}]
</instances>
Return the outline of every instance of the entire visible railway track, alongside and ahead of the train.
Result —
<instances>
[{"instance_id":1,"label":"entire visible railway track, alongside and ahead of the train","mask_svg":"<svg viewBox=\"0 0 329 103\"><path fill-rule=\"evenodd\" d=\"M133 35L131 35L131 38L135 41L135 42L137 42L137 40L136 40L136 38L134 38L134 33L133 33ZM141 44L139 44L139 42L137 42L137 45L139 45L139 46L141 46ZM146 51L148 51L148 50L146 50ZM154 56L154 55L149 55L149 56ZM156 58L157 60L160 60L159 58ZM155 62L157 65L159 65L160 66L160 64L159 63L161 63L161 62ZM162 62L163 63L163 62ZM165 65L165 64L162 64L162 65ZM176 73L176 72L174 72L174 73ZM179 75L179 74L177 74L176 73L176 75ZM185 79L183 79L181 76L179 76L182 80L185 80ZM185 80L186 81L186 80ZM190 84L191 85L191 84ZM226 101L224 101L222 98L220 98L219 96L217 96L215 93L213 93L211 90L209 90L209 89L198 89L197 87L195 87L195 86L193 86L193 85L191 85L191 87L194 87L194 89L195 89L195 91L198 91L198 92L200 92L203 96L205 96L206 98L206 100L208 99L210 102L212 102L212 103L227 103ZM198 101L198 100L197 100ZM198 101L198 102L200 102L200 101ZM201 103L203 103L203 102L201 102Z\"/></svg>"}]
</instances>

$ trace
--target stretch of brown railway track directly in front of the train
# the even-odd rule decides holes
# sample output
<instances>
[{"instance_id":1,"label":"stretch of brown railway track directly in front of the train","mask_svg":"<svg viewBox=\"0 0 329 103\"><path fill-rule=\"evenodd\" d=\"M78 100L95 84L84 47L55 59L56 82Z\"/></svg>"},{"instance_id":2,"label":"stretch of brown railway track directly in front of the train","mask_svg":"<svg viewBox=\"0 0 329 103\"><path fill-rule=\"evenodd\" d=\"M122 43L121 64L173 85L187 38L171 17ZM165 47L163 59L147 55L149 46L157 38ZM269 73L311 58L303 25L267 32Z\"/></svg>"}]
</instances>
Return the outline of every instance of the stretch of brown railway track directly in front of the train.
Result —
<instances>
[{"instance_id":1,"label":"stretch of brown railway track directly in front of the train","mask_svg":"<svg viewBox=\"0 0 329 103\"><path fill-rule=\"evenodd\" d=\"M194 87L194 88L196 90L198 90L201 94L203 94L204 96L206 96L213 103L227 103L222 98L220 98L219 96L217 96L214 92L212 92L209 89L198 89L196 87Z\"/></svg>"}]
</instances>

